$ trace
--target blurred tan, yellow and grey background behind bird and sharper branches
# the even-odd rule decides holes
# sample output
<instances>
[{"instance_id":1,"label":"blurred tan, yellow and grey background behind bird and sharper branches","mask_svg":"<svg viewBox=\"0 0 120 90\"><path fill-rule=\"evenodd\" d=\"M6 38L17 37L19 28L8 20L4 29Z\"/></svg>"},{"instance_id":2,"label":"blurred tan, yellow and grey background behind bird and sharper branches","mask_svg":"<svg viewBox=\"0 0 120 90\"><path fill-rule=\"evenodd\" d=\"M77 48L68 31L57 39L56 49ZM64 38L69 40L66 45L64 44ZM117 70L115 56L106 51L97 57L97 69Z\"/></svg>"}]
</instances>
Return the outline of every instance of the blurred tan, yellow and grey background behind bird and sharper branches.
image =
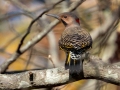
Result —
<instances>
[{"instance_id":1,"label":"blurred tan, yellow and grey background behind bird and sharper branches","mask_svg":"<svg viewBox=\"0 0 120 90\"><path fill-rule=\"evenodd\" d=\"M59 0L0 0L0 64L16 51L30 22L57 1ZM48 13L65 12L76 1L79 0L65 0ZM120 0L86 0L74 13L80 18L81 27L88 30L93 38L90 53L99 56L105 63L119 62ZM43 15L39 24L36 22L32 26L24 44L45 30L54 20ZM62 23L57 24L39 43L11 64L8 71L64 65L66 56L58 47L58 40L64 28ZM120 90L120 87L98 80L80 80L61 86L60 90Z\"/></svg>"}]
</instances>

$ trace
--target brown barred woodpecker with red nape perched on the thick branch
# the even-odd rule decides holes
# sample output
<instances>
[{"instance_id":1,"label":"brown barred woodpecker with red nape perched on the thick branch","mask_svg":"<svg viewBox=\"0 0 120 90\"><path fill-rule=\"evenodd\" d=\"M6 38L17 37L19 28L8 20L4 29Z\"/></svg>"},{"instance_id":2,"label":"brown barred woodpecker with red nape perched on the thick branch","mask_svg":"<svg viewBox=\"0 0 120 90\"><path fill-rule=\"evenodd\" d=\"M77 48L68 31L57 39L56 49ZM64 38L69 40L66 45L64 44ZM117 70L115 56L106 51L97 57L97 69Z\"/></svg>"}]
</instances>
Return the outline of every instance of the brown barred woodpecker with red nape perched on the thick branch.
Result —
<instances>
[{"instance_id":1,"label":"brown barred woodpecker with red nape perched on the thick branch","mask_svg":"<svg viewBox=\"0 0 120 90\"><path fill-rule=\"evenodd\" d=\"M59 15L46 14L62 21L65 26L59 47L66 52L65 68L71 73L81 72L82 61L81 54L85 53L92 47L92 38L90 34L80 26L79 18L70 12Z\"/></svg>"}]
</instances>

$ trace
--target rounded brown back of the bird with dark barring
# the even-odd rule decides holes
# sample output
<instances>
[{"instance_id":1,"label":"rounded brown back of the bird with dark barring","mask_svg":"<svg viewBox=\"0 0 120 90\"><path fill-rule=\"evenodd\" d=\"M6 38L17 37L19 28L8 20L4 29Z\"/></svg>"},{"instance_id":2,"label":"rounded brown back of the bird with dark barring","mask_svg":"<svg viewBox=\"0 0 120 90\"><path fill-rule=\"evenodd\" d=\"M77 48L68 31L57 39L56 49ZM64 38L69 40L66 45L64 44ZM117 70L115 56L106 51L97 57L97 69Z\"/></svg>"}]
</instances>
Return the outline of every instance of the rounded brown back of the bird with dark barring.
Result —
<instances>
[{"instance_id":1,"label":"rounded brown back of the bird with dark barring","mask_svg":"<svg viewBox=\"0 0 120 90\"><path fill-rule=\"evenodd\" d=\"M92 39L80 26L66 27L59 40L59 46L65 51L84 51L92 46Z\"/></svg>"}]
</instances>

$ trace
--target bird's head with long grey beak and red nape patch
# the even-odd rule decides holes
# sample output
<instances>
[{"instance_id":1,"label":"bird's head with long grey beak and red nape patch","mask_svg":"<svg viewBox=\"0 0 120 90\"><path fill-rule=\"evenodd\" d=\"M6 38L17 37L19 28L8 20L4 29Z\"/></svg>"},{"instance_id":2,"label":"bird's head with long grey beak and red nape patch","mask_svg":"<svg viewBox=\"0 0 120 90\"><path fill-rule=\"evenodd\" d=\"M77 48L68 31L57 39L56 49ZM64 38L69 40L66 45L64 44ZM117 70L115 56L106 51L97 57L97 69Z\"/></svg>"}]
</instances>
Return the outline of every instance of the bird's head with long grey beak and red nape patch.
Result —
<instances>
[{"instance_id":1,"label":"bird's head with long grey beak and red nape patch","mask_svg":"<svg viewBox=\"0 0 120 90\"><path fill-rule=\"evenodd\" d=\"M55 15L55 14L46 14L46 15L61 20L65 26L71 24L80 24L79 18L75 14L70 12L61 13L59 15Z\"/></svg>"}]
</instances>

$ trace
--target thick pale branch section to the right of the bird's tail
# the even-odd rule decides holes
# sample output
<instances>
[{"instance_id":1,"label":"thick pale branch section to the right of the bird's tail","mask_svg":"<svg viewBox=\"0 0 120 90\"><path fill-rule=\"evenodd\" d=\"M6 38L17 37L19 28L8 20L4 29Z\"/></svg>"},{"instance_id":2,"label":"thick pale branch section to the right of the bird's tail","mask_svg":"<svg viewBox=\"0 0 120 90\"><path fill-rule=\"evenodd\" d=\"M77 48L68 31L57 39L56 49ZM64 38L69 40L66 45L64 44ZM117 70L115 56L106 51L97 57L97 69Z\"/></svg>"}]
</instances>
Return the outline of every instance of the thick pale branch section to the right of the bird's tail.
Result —
<instances>
[{"instance_id":1,"label":"thick pale branch section to the right of the bird's tail","mask_svg":"<svg viewBox=\"0 0 120 90\"><path fill-rule=\"evenodd\" d=\"M84 78L98 79L115 85L120 85L120 63L106 64L95 56L90 56L90 62L84 62Z\"/></svg>"}]
</instances>

